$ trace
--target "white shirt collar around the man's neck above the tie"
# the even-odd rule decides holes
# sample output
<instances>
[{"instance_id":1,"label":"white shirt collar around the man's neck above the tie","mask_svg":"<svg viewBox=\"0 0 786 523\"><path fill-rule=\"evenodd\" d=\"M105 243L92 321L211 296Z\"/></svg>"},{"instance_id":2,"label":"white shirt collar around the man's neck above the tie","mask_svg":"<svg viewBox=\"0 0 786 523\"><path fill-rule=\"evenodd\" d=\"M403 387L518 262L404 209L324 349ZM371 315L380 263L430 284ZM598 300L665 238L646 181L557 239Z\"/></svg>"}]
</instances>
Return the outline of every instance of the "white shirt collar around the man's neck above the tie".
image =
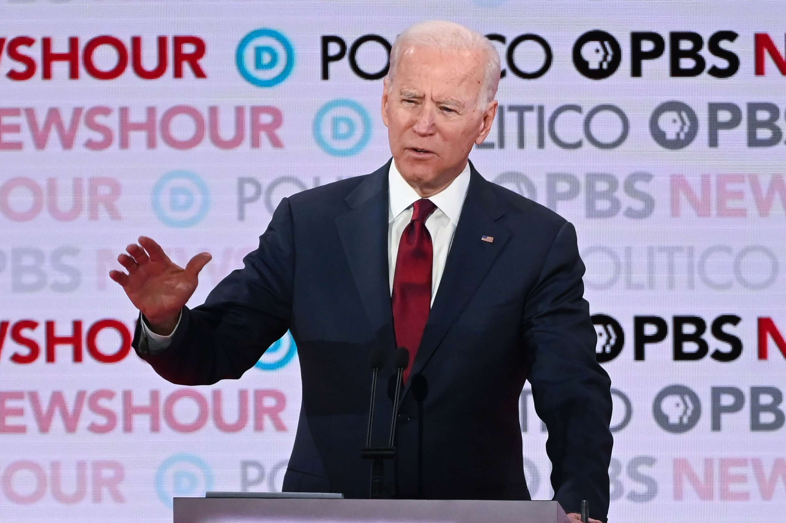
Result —
<instances>
[{"instance_id":1,"label":"white shirt collar around the man's neck above the tie","mask_svg":"<svg viewBox=\"0 0 786 523\"><path fill-rule=\"evenodd\" d=\"M406 183L399 170L396 169L395 160L391 161L390 170L387 172L387 187L390 198L388 222L393 221L395 217L421 199L421 196L415 192L415 189L410 184ZM432 200L439 210L443 211L450 221L457 224L458 217L461 216L461 207L464 206L464 199L467 196L468 187L469 162L467 162L461 174L450 182L450 185L429 199Z\"/></svg>"}]
</instances>

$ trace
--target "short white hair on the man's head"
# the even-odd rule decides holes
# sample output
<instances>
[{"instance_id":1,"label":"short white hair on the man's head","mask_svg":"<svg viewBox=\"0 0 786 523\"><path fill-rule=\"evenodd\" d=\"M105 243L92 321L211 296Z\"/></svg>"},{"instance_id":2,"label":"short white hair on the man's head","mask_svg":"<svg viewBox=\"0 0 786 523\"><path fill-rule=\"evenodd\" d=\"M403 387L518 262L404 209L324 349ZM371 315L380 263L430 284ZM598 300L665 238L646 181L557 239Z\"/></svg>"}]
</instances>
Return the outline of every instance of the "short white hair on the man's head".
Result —
<instances>
[{"instance_id":1,"label":"short white hair on the man's head","mask_svg":"<svg viewBox=\"0 0 786 523\"><path fill-rule=\"evenodd\" d=\"M480 90L478 103L482 109L494 100L499 86L500 59L497 49L488 38L478 31L473 31L461 24L446 20L426 20L414 24L396 37L391 48L390 68L387 70L385 82L390 92L393 85L396 65L402 54L414 47L428 47L451 51L480 51L483 60L483 89Z\"/></svg>"}]
</instances>

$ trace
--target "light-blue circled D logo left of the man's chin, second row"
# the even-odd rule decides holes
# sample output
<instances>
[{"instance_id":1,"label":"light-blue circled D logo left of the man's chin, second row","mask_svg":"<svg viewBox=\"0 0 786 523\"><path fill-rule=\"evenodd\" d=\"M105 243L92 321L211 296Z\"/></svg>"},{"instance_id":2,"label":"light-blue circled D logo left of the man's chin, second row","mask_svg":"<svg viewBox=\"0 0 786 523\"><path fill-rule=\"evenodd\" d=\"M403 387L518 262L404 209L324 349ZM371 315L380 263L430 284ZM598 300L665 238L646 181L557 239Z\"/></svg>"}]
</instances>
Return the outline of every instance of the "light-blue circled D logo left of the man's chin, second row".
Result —
<instances>
[{"instance_id":1,"label":"light-blue circled D logo left of the man's chin, second row","mask_svg":"<svg viewBox=\"0 0 786 523\"><path fill-rule=\"evenodd\" d=\"M334 156L361 152L371 139L369 112L354 100L340 98L319 108L314 118L314 140Z\"/></svg>"}]
</instances>

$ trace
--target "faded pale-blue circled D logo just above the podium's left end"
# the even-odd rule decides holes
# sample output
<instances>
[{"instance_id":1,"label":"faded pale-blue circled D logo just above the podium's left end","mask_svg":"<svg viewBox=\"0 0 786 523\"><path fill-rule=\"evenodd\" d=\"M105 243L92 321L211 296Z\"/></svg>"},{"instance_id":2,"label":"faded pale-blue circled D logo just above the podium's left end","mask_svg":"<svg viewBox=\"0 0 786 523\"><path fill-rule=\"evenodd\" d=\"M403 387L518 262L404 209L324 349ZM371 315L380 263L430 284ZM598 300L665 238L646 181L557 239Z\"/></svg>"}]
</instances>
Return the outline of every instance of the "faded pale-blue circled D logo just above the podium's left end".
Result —
<instances>
[{"instance_id":1,"label":"faded pale-blue circled D logo just above the podium's left end","mask_svg":"<svg viewBox=\"0 0 786 523\"><path fill-rule=\"evenodd\" d=\"M156 494L161 503L172 507L172 498L204 496L213 489L213 471L208 463L193 454L174 454L156 470Z\"/></svg>"}]
</instances>

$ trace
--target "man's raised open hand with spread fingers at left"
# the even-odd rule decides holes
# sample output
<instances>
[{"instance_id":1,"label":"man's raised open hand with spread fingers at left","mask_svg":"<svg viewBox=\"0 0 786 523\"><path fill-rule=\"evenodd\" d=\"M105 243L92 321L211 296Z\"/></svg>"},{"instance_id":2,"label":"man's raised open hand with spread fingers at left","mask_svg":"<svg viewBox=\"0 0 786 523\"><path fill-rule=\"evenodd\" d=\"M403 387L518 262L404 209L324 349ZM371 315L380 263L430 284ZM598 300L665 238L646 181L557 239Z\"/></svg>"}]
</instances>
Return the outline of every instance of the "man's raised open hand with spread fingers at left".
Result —
<instances>
[{"instance_id":1,"label":"man's raised open hand with spread fingers at left","mask_svg":"<svg viewBox=\"0 0 786 523\"><path fill-rule=\"evenodd\" d=\"M178 323L180 311L196 291L198 276L211 260L207 252L196 254L185 269L175 265L161 246L139 236L139 244L126 247L128 254L120 254L117 261L126 268L109 271L109 277L126 291L131 303L145 315L153 332L169 335Z\"/></svg>"}]
</instances>

